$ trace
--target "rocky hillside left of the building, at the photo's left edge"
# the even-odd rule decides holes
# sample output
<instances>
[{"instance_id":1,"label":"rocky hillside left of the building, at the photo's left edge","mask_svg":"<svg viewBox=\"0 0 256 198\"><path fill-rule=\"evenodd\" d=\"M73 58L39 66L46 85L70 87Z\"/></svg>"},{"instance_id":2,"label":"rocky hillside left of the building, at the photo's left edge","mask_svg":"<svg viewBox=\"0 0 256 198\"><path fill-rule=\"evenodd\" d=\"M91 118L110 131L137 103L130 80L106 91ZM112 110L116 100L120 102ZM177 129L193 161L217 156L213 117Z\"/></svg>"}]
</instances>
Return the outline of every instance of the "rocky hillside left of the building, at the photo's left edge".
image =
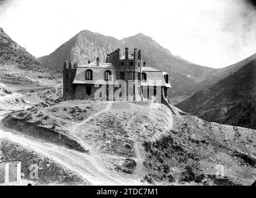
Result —
<instances>
[{"instance_id":1,"label":"rocky hillside left of the building, at the photo's left edge","mask_svg":"<svg viewBox=\"0 0 256 198\"><path fill-rule=\"evenodd\" d=\"M53 88L60 93L60 73L43 65L0 28L0 110L20 110L44 103L42 95ZM55 89L56 88L56 89ZM48 91L47 91L48 90ZM58 97L60 94L57 93ZM49 99L49 98L48 98Z\"/></svg>"}]
</instances>

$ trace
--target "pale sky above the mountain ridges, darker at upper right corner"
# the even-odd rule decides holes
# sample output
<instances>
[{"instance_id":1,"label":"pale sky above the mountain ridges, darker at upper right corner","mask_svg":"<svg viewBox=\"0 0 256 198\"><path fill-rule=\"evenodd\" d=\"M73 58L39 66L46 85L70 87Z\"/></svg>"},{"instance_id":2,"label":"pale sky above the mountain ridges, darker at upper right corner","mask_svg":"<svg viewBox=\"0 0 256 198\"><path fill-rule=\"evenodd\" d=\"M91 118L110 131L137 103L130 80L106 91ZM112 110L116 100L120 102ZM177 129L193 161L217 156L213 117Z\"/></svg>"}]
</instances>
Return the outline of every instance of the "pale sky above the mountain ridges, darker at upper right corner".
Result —
<instances>
[{"instance_id":1,"label":"pale sky above the mountain ridges, darker at upper right corner","mask_svg":"<svg viewBox=\"0 0 256 198\"><path fill-rule=\"evenodd\" d=\"M0 27L36 57L81 30L118 39L144 33L172 54L219 68L256 53L256 12L247 2L2 0Z\"/></svg>"}]
</instances>

